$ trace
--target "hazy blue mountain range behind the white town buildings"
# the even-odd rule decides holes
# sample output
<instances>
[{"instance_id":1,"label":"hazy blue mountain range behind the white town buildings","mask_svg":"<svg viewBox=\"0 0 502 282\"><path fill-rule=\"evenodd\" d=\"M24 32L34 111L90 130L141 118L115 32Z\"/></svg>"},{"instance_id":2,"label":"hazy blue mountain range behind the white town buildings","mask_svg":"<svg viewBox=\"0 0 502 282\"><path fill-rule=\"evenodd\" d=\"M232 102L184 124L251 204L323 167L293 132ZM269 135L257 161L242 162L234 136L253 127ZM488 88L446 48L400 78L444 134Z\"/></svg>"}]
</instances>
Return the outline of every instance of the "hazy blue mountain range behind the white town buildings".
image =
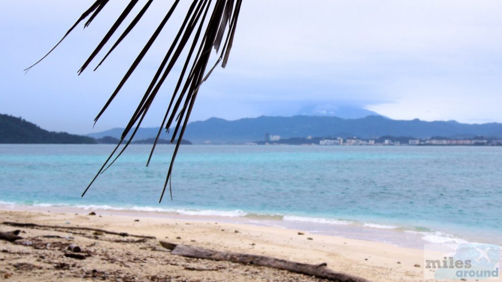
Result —
<instances>
[{"instance_id":1,"label":"hazy blue mountain range behind the white town buildings","mask_svg":"<svg viewBox=\"0 0 502 282\"><path fill-rule=\"evenodd\" d=\"M147 139L157 135L158 128L140 128L135 139ZM120 137L123 128L87 134L90 137ZM246 143L264 140L265 134L291 137L353 137L378 138L384 135L413 136L428 138L431 136L502 137L502 123L466 124L456 121L394 120L384 116L366 116L364 118L343 119L334 116L292 117L261 116L225 120L209 118L188 124L184 139L194 144L211 143ZM161 138L170 136L163 130Z\"/></svg>"}]
</instances>

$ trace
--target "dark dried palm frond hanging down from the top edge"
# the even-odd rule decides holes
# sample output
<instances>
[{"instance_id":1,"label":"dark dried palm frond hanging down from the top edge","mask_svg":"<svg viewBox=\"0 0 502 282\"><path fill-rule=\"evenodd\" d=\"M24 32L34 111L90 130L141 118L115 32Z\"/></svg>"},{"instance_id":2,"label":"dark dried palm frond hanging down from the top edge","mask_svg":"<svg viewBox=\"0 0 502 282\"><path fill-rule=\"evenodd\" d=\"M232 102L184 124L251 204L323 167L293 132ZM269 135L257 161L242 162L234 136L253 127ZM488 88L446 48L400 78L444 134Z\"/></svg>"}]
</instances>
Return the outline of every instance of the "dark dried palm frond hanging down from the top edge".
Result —
<instances>
[{"instance_id":1,"label":"dark dried palm frond hanging down from the top edge","mask_svg":"<svg viewBox=\"0 0 502 282\"><path fill-rule=\"evenodd\" d=\"M143 18L145 12L150 8L152 2L153 0L147 1L145 6L122 32L117 41L104 55L104 57L97 64L94 70L96 70L103 63L108 55L122 42L122 40L131 32L131 30L136 27L137 23ZM186 17L181 23L179 31L174 37L169 49L167 50L164 59L161 61L157 72L155 73L148 87L146 87L146 91L140 103L138 104L138 107L131 116L131 119L129 120L127 126L124 128L119 143L111 152L104 164L101 166L87 188L84 190L82 196L85 195L96 178L106 169L108 169L109 166L111 166L117 160L117 158L120 157L124 150L128 148L138 128L143 122L145 115L150 109L150 106L152 105L156 95L158 94L161 86L166 81L166 78L171 73L176 62L178 62L183 51L188 48L187 57L184 58L185 63L183 65L183 69L179 74L178 82L173 90L170 103L166 109L166 114L161 122L159 132L157 134L147 162L148 166L155 151L155 147L157 145L157 141L160 137L162 129L165 128L167 131L169 131L169 128L171 128L171 126L173 126L173 123L175 123L171 143L176 143L176 145L159 202L162 201L164 193L167 189L167 184L168 182L170 183L174 161L176 159L176 155L178 154L181 140L183 139L183 135L185 133L185 129L188 124L188 120L190 118L190 114L192 112L200 86L209 77L209 75L219 63L222 63L221 66L223 68L226 66L230 54L230 49L232 47L232 41L235 34L235 28L237 26L237 19L242 0L215 0L214 3L212 2L212 0L193 0L188 11L186 12ZM133 8L137 3L138 0L132 0L122 11L122 13L118 15L116 21L109 28L108 32L105 34L101 42L97 45L89 58L84 62L82 67L78 70L78 74L81 74L101 52L111 36L122 25L124 20L126 20L126 18L128 18L128 16L131 14ZM89 24L94 20L94 18L98 16L98 14L102 11L106 4L108 4L108 0L97 0L96 2L94 2L91 7L80 16L77 22L68 30L63 38L42 59L27 68L25 71L28 71L30 68L45 59L68 36L68 34L86 18L88 18L88 20L85 22L84 28L89 26ZM140 54L138 54L133 64L129 67L126 74L124 74L115 90L111 93L103 108L95 117L94 123L99 120L103 112L108 108L110 103L117 96L122 86L136 70L140 62L149 51L150 47L157 40L161 31L166 27L167 22L170 20L173 12L178 7L178 4L179 0L174 0L161 23L158 25L148 42L145 44ZM223 47L221 47L221 43L223 42L223 38L225 37L225 31L226 38L224 40ZM189 42L190 38L193 38L191 43ZM211 56L211 50L213 48L216 50L216 53L219 52L219 57L216 60L216 63L206 72L207 65ZM189 68L190 63L191 67ZM131 130L133 130L132 133ZM131 137L127 140L123 148L118 151L118 148L124 142L125 138L129 136L129 133L131 133ZM169 185L169 191L172 199L171 185Z\"/></svg>"}]
</instances>

